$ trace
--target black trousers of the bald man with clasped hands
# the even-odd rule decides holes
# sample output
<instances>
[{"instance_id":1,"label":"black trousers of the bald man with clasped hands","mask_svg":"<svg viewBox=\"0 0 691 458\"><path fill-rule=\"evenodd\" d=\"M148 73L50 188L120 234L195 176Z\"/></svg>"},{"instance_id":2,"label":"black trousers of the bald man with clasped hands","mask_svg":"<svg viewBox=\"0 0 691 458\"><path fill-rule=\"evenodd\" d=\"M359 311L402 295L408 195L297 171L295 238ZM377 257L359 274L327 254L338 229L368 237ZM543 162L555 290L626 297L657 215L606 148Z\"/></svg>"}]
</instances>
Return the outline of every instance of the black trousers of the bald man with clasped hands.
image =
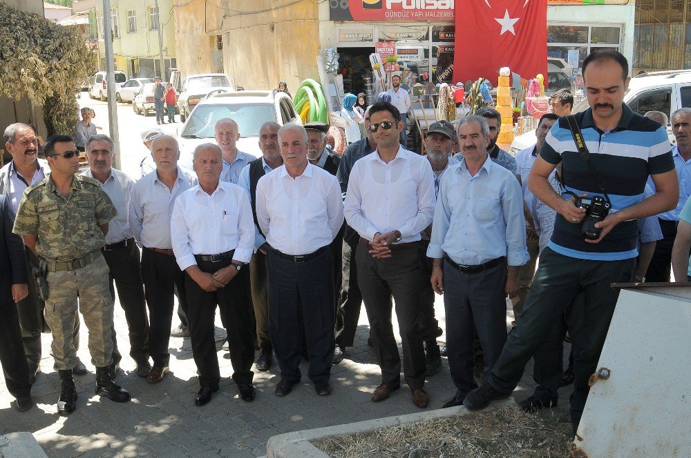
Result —
<instances>
[{"instance_id":1,"label":"black trousers of the bald man with clasped hands","mask_svg":"<svg viewBox=\"0 0 691 458\"><path fill-rule=\"evenodd\" d=\"M202 272L214 273L230 264L230 259L218 262L197 261ZM230 361L233 364L233 380L238 385L252 383L254 343L252 319L249 315L249 270L247 266L238 272L230 283L214 292L202 288L185 273L184 287L187 293L187 319L192 343L194 363L199 371L202 388L218 388L220 371L214 338L216 306L228 334Z\"/></svg>"}]
</instances>

